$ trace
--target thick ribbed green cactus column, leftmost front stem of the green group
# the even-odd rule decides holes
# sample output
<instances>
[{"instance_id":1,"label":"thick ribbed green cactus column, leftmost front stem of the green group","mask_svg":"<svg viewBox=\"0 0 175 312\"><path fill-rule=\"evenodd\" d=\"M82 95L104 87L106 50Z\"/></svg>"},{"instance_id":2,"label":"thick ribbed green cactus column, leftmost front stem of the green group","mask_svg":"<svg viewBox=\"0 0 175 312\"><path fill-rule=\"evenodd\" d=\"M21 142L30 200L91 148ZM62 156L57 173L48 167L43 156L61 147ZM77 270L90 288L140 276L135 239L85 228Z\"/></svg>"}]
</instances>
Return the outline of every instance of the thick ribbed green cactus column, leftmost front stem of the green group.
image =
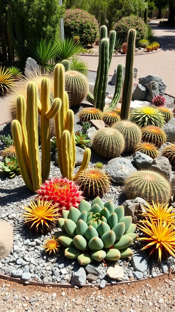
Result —
<instances>
[{"instance_id":1,"label":"thick ribbed green cactus column, leftmost front stem of the green group","mask_svg":"<svg viewBox=\"0 0 175 312\"><path fill-rule=\"evenodd\" d=\"M105 106L106 98L106 85L108 78L108 65L109 65L109 40L107 38L102 39L100 45L100 71L97 84L97 93L95 100L95 107L103 110Z\"/></svg>"}]
</instances>

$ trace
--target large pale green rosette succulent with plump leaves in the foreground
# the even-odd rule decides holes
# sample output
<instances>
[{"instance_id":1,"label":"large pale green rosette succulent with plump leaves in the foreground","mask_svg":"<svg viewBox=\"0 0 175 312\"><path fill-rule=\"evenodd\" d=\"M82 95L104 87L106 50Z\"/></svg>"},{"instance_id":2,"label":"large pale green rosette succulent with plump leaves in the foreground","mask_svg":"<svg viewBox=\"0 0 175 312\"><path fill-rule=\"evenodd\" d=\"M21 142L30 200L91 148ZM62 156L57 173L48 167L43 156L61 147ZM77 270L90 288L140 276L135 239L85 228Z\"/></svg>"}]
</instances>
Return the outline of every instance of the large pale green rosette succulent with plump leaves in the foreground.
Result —
<instances>
[{"instance_id":1,"label":"large pale green rosette succulent with plump leaves in the foreground","mask_svg":"<svg viewBox=\"0 0 175 312\"><path fill-rule=\"evenodd\" d=\"M58 225L62 231L54 236L66 247L64 255L77 258L81 265L130 257L133 252L128 247L138 238L132 218L124 216L124 207L115 208L111 200L104 203L100 197L91 204L82 200L78 209L64 210Z\"/></svg>"}]
</instances>

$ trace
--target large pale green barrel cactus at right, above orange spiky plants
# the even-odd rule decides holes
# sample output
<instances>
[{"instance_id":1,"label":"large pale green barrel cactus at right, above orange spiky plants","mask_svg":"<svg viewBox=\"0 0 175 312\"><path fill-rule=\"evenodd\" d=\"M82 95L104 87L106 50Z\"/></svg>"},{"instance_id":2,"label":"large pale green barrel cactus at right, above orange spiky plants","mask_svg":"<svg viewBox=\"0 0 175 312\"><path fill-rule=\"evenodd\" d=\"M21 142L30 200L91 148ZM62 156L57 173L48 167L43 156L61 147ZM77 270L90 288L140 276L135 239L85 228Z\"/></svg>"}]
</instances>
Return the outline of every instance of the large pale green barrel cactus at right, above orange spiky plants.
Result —
<instances>
[{"instance_id":1,"label":"large pale green barrel cactus at right, above orange spiky plants","mask_svg":"<svg viewBox=\"0 0 175 312\"><path fill-rule=\"evenodd\" d=\"M171 197L169 182L160 174L150 170L138 170L132 173L125 181L127 199L141 197L148 203L168 203Z\"/></svg>"}]
</instances>

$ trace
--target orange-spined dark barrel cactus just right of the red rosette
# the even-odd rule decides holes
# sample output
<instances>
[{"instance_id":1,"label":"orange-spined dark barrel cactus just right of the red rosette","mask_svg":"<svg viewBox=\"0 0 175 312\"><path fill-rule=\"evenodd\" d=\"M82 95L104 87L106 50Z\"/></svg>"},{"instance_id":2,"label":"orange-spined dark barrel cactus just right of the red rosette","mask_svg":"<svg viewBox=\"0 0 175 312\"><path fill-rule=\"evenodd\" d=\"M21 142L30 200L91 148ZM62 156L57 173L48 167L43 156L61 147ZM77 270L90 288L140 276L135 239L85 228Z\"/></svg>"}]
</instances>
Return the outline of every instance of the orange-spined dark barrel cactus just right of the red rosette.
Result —
<instances>
[{"instance_id":1,"label":"orange-spined dark barrel cactus just right of the red rosette","mask_svg":"<svg viewBox=\"0 0 175 312\"><path fill-rule=\"evenodd\" d=\"M80 186L85 197L102 197L109 191L111 185L109 173L101 168L87 168L76 175L76 183Z\"/></svg>"}]
</instances>

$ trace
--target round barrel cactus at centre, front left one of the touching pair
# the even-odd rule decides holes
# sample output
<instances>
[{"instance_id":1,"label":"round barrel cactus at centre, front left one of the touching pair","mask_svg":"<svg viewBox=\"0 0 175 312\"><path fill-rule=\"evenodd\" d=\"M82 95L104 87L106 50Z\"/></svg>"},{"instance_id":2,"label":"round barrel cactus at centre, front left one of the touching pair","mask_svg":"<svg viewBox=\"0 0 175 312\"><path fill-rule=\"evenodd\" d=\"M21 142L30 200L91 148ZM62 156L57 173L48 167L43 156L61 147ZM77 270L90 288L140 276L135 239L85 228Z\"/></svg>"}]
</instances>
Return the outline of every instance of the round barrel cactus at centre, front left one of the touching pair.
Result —
<instances>
[{"instance_id":1,"label":"round barrel cactus at centre, front left one of the touching pair","mask_svg":"<svg viewBox=\"0 0 175 312\"><path fill-rule=\"evenodd\" d=\"M94 135L92 146L104 158L118 157L125 148L123 135L116 129L99 129Z\"/></svg>"}]
</instances>

